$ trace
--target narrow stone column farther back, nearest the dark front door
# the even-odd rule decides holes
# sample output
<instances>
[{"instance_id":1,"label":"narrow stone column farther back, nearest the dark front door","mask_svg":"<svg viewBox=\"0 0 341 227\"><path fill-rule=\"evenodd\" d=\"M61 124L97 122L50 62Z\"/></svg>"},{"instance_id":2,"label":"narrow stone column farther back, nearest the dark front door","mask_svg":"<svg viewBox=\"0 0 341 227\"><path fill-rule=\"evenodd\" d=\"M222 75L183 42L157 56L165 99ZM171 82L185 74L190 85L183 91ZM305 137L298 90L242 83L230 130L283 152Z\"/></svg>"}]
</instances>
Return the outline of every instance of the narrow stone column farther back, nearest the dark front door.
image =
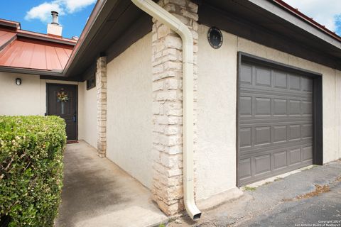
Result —
<instances>
[{"instance_id":1,"label":"narrow stone column farther back, nearest the dark front door","mask_svg":"<svg viewBox=\"0 0 341 227\"><path fill-rule=\"evenodd\" d=\"M107 151L107 57L97 59L97 154L105 157Z\"/></svg>"}]
</instances>

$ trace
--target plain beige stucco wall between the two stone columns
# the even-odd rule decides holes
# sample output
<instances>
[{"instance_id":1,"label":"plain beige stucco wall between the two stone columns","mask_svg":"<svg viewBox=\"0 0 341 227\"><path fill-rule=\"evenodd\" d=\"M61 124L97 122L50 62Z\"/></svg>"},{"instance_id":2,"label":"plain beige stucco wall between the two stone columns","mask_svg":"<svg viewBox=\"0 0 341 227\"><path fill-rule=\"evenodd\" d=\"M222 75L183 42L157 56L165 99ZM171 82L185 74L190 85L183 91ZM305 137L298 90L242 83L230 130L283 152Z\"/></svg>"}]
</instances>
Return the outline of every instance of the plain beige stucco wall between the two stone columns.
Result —
<instances>
[{"instance_id":1,"label":"plain beige stucco wall between the two stone columns","mask_svg":"<svg viewBox=\"0 0 341 227\"><path fill-rule=\"evenodd\" d=\"M107 157L151 188L151 33L107 64Z\"/></svg>"}]
</instances>

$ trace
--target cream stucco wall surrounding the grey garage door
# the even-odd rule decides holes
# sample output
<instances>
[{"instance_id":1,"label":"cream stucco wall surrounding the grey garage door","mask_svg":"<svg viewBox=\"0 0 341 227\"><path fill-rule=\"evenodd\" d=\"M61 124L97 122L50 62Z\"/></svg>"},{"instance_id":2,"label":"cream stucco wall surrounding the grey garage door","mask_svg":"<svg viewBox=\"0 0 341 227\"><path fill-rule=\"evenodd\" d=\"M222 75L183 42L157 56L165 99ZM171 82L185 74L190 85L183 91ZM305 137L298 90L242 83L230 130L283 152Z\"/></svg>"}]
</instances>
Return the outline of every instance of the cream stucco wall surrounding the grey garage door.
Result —
<instances>
[{"instance_id":1,"label":"cream stucco wall surrounding the grey garage door","mask_svg":"<svg viewBox=\"0 0 341 227\"><path fill-rule=\"evenodd\" d=\"M225 32L222 47L215 50L207 42L208 29L202 25L198 28L198 199L236 185L238 51L323 74L323 162L341 157L340 71Z\"/></svg>"}]
</instances>

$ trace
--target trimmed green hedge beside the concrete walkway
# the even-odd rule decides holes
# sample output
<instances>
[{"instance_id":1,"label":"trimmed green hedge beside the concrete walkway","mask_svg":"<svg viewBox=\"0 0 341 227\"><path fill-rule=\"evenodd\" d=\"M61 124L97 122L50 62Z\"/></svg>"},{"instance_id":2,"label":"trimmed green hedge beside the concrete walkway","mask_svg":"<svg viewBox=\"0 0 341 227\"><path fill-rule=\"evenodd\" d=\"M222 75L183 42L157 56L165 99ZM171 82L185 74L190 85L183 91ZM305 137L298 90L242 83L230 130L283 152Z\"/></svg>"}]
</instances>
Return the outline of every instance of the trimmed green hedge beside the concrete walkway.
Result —
<instances>
[{"instance_id":1,"label":"trimmed green hedge beside the concrete walkway","mask_svg":"<svg viewBox=\"0 0 341 227\"><path fill-rule=\"evenodd\" d=\"M65 144L62 118L0 116L0 226L53 226Z\"/></svg>"}]
</instances>

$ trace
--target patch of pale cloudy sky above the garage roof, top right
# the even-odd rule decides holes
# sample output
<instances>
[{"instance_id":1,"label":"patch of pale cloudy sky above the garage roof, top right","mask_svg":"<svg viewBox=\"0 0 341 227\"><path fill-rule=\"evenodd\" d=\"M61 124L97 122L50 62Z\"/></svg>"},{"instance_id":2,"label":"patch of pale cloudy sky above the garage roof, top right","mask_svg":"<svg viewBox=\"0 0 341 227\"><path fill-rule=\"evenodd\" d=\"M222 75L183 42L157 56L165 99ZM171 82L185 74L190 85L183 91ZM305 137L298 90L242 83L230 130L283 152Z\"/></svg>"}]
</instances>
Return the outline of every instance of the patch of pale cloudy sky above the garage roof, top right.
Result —
<instances>
[{"instance_id":1,"label":"patch of pale cloudy sky above the garage roof, top right","mask_svg":"<svg viewBox=\"0 0 341 227\"><path fill-rule=\"evenodd\" d=\"M284 0L298 8L305 15L312 17L330 31L336 30L336 16L341 13L340 0Z\"/></svg>"}]
</instances>

